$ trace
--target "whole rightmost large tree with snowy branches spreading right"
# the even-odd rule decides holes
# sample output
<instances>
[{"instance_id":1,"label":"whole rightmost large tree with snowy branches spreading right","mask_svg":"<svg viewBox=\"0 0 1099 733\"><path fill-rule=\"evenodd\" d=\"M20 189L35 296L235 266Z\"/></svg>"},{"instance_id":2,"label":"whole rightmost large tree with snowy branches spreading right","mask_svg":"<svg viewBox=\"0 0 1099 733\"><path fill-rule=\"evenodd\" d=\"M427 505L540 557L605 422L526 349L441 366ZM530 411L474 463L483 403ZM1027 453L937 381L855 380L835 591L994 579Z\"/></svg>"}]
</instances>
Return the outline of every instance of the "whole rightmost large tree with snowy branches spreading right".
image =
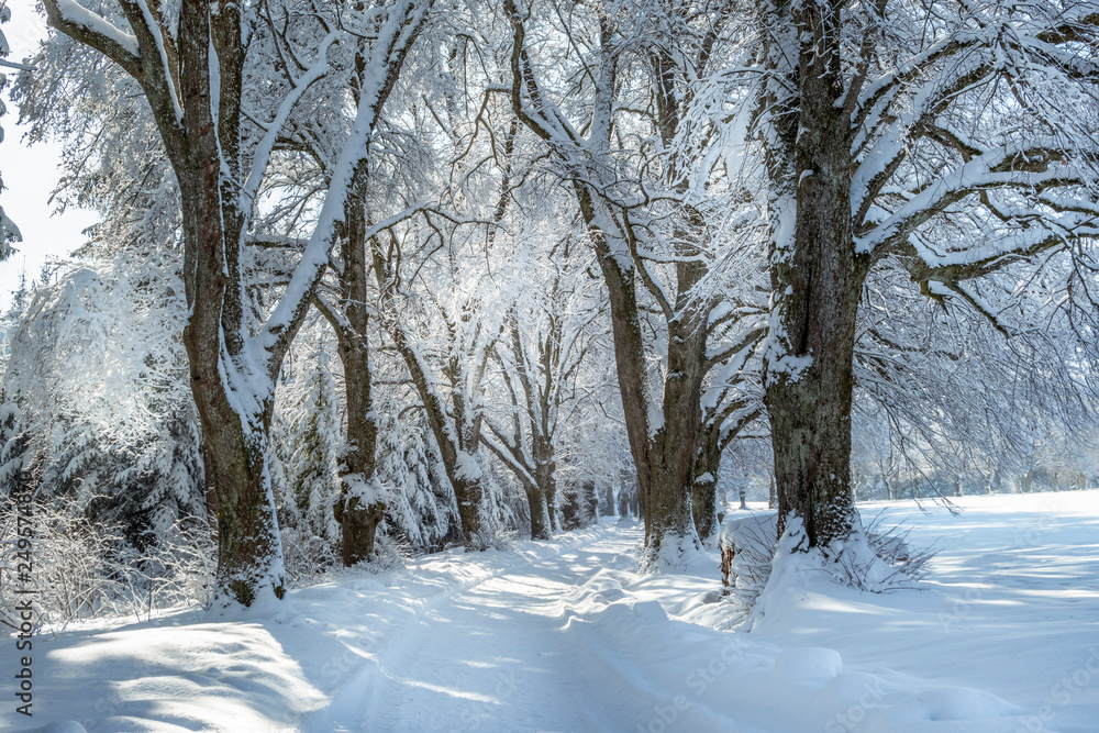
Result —
<instances>
[{"instance_id":1,"label":"whole rightmost large tree with snowy branches spreading right","mask_svg":"<svg viewBox=\"0 0 1099 733\"><path fill-rule=\"evenodd\" d=\"M970 280L1097 233L1099 15L1042 1L737 10L751 53L719 76L725 119L748 136L731 167L766 176L780 526L833 557L861 535L851 407L870 271L896 263L926 296L983 313Z\"/></svg>"}]
</instances>

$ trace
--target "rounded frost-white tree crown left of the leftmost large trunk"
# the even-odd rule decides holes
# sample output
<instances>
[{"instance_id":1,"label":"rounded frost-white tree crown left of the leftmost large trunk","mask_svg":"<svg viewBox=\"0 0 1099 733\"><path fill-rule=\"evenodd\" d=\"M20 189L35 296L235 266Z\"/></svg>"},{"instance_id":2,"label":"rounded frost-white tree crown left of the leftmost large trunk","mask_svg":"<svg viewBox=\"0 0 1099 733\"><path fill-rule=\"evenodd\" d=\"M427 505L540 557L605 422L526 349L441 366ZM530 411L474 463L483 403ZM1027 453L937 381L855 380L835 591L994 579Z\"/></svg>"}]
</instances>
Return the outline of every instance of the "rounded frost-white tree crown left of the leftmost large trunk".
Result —
<instances>
[{"instance_id":1,"label":"rounded frost-white tree crown left of the leftmost large trunk","mask_svg":"<svg viewBox=\"0 0 1099 733\"><path fill-rule=\"evenodd\" d=\"M168 265L148 265L70 267L40 286L10 326L2 387L8 437L38 492L120 522L135 544L207 514L197 415L171 327L185 316L179 284L148 276Z\"/></svg>"}]
</instances>

